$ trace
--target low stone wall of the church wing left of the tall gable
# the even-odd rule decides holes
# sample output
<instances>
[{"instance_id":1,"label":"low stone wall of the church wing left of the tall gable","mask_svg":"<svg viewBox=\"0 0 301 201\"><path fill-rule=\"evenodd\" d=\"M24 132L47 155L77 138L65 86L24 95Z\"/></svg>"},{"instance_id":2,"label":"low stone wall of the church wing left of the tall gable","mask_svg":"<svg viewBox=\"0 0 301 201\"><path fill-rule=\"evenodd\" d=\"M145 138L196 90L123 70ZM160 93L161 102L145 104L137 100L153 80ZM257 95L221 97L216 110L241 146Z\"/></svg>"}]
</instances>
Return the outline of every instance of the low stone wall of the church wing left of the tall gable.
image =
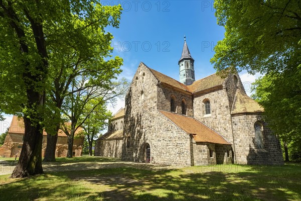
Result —
<instances>
[{"instance_id":1,"label":"low stone wall of the church wing left of the tall gable","mask_svg":"<svg viewBox=\"0 0 301 201\"><path fill-rule=\"evenodd\" d=\"M95 141L94 156L121 158L121 140L97 140Z\"/></svg>"}]
</instances>

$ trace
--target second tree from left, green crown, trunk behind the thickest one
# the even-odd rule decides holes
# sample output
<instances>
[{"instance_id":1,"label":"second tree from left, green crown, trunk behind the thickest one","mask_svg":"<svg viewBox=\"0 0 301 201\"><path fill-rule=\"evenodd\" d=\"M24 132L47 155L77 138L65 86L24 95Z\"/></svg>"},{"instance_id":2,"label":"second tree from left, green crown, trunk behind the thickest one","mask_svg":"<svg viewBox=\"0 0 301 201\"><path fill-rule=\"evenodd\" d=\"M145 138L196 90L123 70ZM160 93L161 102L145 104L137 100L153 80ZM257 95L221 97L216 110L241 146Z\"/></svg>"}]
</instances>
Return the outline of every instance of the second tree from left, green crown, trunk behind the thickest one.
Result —
<instances>
[{"instance_id":1,"label":"second tree from left, green crown, trunk behind the thickest one","mask_svg":"<svg viewBox=\"0 0 301 201\"><path fill-rule=\"evenodd\" d=\"M50 53L50 88L48 96L47 118L51 124L45 125L47 131L47 146L44 161L55 161L56 143L60 128L62 105L65 97L70 93L71 82L75 77L84 75L106 83L105 79L112 79L121 72L122 59L115 57L107 59L113 50L111 40L113 36L105 32L107 26L118 28L121 14L120 6L95 6L86 10L84 18L72 16L65 26L56 30L60 46L51 47ZM99 81L100 80L100 81ZM84 90L86 86L78 88Z\"/></svg>"}]
</instances>

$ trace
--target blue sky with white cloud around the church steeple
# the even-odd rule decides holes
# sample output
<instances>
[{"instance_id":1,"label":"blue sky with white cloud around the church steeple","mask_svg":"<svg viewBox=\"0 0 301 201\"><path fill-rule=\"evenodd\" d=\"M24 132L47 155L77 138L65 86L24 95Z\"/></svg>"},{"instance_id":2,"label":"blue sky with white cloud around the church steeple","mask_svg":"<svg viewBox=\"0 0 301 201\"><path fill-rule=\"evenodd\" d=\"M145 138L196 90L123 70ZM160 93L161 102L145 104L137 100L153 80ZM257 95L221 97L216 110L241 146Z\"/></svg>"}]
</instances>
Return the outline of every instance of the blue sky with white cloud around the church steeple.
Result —
<instances>
[{"instance_id":1,"label":"blue sky with white cloud around the church steeple","mask_svg":"<svg viewBox=\"0 0 301 201\"><path fill-rule=\"evenodd\" d=\"M190 53L195 59L195 77L200 79L215 73L210 58L214 46L224 37L224 28L218 26L214 16L214 1L101 1L103 5L123 7L119 29L108 27L114 36L113 56L123 58L123 72L119 78L132 79L140 61L148 67L179 80L178 61L184 44L184 35ZM240 78L250 94L250 83L259 74L245 71ZM109 109L115 113L124 107L118 100ZM0 133L5 132L12 116L5 115L0 122Z\"/></svg>"}]
</instances>

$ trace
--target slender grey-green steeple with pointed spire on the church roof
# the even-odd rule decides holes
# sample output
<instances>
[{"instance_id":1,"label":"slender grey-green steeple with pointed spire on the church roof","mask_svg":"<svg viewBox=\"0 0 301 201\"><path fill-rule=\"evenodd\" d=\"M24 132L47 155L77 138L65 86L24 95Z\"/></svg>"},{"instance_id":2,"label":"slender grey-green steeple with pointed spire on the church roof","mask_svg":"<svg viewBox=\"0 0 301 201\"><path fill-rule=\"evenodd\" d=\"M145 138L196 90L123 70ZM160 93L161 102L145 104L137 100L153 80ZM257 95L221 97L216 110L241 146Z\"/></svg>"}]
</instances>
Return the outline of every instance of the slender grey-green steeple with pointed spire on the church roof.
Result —
<instances>
[{"instance_id":1,"label":"slender grey-green steeple with pointed spire on the church roof","mask_svg":"<svg viewBox=\"0 0 301 201\"><path fill-rule=\"evenodd\" d=\"M184 36L182 56L178 64L180 67L180 82L185 85L191 85L195 81L193 63L194 59L191 57L186 44L186 36Z\"/></svg>"}]
</instances>

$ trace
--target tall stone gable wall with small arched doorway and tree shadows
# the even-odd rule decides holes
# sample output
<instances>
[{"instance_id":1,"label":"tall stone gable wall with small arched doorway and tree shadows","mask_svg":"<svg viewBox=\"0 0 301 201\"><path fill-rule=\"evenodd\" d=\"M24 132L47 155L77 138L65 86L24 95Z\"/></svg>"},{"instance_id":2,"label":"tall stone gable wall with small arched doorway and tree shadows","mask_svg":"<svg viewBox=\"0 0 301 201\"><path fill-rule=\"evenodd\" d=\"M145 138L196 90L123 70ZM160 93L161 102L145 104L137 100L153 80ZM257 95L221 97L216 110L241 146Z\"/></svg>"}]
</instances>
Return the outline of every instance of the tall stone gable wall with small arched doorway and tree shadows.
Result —
<instances>
[{"instance_id":1,"label":"tall stone gable wall with small arched doorway and tree shadows","mask_svg":"<svg viewBox=\"0 0 301 201\"><path fill-rule=\"evenodd\" d=\"M149 144L150 162L190 165L190 137L157 111L157 84L152 72L139 65L125 98L121 159L144 162Z\"/></svg>"}]
</instances>

